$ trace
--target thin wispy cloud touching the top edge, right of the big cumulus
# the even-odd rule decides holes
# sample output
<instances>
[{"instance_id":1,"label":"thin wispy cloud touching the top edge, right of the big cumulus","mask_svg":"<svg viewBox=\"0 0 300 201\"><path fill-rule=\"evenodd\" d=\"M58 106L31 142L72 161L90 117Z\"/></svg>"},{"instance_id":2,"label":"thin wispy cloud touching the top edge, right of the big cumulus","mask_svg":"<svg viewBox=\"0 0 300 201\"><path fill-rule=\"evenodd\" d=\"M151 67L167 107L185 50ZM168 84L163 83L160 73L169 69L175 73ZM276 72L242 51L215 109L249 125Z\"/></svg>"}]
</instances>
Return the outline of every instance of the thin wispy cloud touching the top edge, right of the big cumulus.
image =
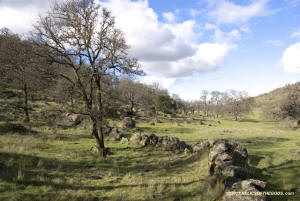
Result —
<instances>
[{"instance_id":1,"label":"thin wispy cloud touching the top edge, right of the big cumulus","mask_svg":"<svg viewBox=\"0 0 300 201\"><path fill-rule=\"evenodd\" d=\"M236 5L227 0L210 1L210 6L215 9L209 12L209 16L219 24L240 24L249 21L253 17L268 16L273 11L267 8L269 0L256 0L249 5Z\"/></svg>"}]
</instances>

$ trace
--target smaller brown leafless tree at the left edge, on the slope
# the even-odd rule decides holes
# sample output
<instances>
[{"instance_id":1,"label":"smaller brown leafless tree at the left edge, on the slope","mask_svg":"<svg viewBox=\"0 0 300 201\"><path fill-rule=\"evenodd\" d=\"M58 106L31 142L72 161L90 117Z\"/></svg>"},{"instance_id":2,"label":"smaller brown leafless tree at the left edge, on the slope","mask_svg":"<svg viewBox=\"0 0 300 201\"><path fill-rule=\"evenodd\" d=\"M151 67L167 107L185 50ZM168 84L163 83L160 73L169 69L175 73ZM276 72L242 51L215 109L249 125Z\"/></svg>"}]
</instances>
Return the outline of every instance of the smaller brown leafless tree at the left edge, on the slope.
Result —
<instances>
[{"instance_id":1,"label":"smaller brown leafless tree at the left edge, on the slope","mask_svg":"<svg viewBox=\"0 0 300 201\"><path fill-rule=\"evenodd\" d=\"M45 88L50 83L52 75L50 63L35 54L36 51L47 52L46 49L36 49L28 40L21 39L7 28L0 30L0 63L1 80L24 93L24 122L29 122L29 95Z\"/></svg>"}]
</instances>

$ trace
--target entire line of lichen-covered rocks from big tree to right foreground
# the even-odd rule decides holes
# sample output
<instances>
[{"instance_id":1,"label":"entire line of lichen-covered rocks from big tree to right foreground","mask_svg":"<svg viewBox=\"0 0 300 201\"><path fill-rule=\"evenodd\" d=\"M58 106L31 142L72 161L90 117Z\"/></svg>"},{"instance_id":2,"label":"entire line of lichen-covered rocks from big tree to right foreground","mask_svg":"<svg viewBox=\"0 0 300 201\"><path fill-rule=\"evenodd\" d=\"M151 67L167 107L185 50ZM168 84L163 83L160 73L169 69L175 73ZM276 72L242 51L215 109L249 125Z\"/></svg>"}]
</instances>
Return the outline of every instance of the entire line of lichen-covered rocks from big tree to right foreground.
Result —
<instances>
[{"instance_id":1,"label":"entire line of lichen-covered rocks from big tree to right foreground","mask_svg":"<svg viewBox=\"0 0 300 201\"><path fill-rule=\"evenodd\" d=\"M118 130L113 128L109 137L138 146L155 146L174 153L190 152L194 154L207 153L209 174L218 178L223 186L222 201L269 201L262 192L267 183L249 178L247 173L248 152L240 144L225 139L206 140L192 146L173 136L156 136L136 133L130 140L118 135ZM95 148L92 150L95 151Z\"/></svg>"}]
</instances>

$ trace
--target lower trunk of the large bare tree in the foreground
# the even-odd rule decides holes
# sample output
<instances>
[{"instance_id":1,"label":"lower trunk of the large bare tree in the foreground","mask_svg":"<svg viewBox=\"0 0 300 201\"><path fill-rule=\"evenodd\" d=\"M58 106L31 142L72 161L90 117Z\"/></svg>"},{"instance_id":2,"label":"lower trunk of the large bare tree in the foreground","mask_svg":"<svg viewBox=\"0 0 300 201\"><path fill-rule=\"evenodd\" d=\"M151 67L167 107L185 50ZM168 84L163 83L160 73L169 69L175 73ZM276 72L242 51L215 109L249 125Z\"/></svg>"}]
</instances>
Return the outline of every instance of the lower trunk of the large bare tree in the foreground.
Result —
<instances>
[{"instance_id":1,"label":"lower trunk of the large bare tree in the foreground","mask_svg":"<svg viewBox=\"0 0 300 201\"><path fill-rule=\"evenodd\" d=\"M100 157L106 157L106 150L104 146L104 137L103 137L103 129L100 121L95 118L91 118L93 121L93 136L96 139L98 145L98 151Z\"/></svg>"}]
</instances>

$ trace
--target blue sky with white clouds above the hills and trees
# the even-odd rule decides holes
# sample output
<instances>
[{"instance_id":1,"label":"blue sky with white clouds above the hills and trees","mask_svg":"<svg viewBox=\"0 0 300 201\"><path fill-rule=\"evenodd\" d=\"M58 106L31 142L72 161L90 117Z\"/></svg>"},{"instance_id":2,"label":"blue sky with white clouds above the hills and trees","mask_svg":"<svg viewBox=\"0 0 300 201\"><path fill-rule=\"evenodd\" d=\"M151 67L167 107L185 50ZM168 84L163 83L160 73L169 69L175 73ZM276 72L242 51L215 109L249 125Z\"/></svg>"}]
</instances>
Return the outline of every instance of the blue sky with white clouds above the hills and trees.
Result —
<instances>
[{"instance_id":1,"label":"blue sky with white clouds above the hills and trees","mask_svg":"<svg viewBox=\"0 0 300 201\"><path fill-rule=\"evenodd\" d=\"M62 1L62 0L61 0ZM250 95L300 81L300 0L102 0L147 76L181 98ZM0 0L0 27L26 33L42 0Z\"/></svg>"}]
</instances>

